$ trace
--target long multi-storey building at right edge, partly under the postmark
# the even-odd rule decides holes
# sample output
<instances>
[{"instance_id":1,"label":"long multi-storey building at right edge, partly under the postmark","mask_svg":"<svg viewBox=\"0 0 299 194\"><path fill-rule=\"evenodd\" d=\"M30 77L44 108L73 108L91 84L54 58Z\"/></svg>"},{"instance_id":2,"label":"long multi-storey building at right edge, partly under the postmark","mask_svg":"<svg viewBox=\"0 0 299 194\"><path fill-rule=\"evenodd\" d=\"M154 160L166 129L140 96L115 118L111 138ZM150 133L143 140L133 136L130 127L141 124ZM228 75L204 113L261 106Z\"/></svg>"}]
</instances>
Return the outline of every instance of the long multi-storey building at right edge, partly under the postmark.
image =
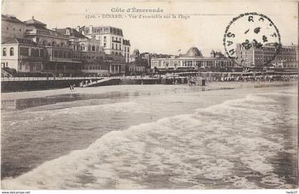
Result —
<instances>
[{"instance_id":1,"label":"long multi-storey building at right edge, partly under the postmark","mask_svg":"<svg viewBox=\"0 0 299 194\"><path fill-rule=\"evenodd\" d=\"M298 68L298 46L267 43L261 47L251 44L246 49L236 45L236 63L246 68ZM277 50L279 48L279 50Z\"/></svg>"}]
</instances>

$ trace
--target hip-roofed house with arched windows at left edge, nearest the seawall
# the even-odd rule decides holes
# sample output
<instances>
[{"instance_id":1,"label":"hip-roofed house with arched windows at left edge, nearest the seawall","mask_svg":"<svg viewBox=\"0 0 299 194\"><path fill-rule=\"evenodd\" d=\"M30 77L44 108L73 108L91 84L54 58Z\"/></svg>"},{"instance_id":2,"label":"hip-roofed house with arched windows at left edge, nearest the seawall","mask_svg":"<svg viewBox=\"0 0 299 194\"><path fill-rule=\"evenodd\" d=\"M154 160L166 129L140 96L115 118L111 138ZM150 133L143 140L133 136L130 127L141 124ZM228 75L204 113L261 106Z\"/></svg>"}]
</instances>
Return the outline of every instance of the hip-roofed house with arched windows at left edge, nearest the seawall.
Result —
<instances>
[{"instance_id":1,"label":"hip-roofed house with arched windows at left edge, nearest the seawall","mask_svg":"<svg viewBox=\"0 0 299 194\"><path fill-rule=\"evenodd\" d=\"M43 72L46 48L24 38L11 38L1 44L1 68L17 72Z\"/></svg>"}]
</instances>

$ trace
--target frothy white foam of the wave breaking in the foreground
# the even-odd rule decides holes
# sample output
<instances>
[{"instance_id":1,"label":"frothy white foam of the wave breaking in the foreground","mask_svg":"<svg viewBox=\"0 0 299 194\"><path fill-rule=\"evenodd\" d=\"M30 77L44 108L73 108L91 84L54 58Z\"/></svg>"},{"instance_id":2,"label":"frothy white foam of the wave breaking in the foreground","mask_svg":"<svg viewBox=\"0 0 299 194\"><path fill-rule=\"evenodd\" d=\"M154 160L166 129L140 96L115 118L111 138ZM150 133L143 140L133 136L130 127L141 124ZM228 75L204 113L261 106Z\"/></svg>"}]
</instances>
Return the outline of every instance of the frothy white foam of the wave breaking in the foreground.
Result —
<instances>
[{"instance_id":1,"label":"frothy white foam of the wave breaking in the foreground","mask_svg":"<svg viewBox=\"0 0 299 194\"><path fill-rule=\"evenodd\" d=\"M165 188L172 183L173 188L179 185L205 188L198 180L205 178L207 182L231 181L231 188L258 188L246 178L234 175L236 162L241 161L246 168L263 175L273 173L267 158L275 157L275 151L283 150L283 146L272 141L275 135L269 139L262 137L261 126L273 127L279 116L277 112L238 107L255 102L265 103L265 109L275 103L248 95L196 109L194 114L166 117L125 131L110 131L87 149L46 161L17 178L4 178L1 185L5 189L132 189L159 184ZM140 104L134 102L101 105L106 111L137 107ZM80 112L80 108L71 109ZM264 183L267 181L283 185L277 177Z\"/></svg>"}]
</instances>

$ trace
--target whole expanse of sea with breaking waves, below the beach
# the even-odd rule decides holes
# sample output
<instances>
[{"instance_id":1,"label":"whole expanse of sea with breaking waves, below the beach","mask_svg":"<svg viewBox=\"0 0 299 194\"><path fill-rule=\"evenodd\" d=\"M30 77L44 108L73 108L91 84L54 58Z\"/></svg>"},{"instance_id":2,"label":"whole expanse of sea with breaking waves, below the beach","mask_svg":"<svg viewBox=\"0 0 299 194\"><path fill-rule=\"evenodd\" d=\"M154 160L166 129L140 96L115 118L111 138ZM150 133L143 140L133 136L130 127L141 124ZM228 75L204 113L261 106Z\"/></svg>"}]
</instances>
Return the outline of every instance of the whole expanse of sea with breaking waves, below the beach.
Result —
<instances>
[{"instance_id":1,"label":"whole expanse of sea with breaking waves, below the beach","mask_svg":"<svg viewBox=\"0 0 299 194\"><path fill-rule=\"evenodd\" d=\"M296 86L19 99L2 106L1 188L295 188L297 100Z\"/></svg>"}]
</instances>

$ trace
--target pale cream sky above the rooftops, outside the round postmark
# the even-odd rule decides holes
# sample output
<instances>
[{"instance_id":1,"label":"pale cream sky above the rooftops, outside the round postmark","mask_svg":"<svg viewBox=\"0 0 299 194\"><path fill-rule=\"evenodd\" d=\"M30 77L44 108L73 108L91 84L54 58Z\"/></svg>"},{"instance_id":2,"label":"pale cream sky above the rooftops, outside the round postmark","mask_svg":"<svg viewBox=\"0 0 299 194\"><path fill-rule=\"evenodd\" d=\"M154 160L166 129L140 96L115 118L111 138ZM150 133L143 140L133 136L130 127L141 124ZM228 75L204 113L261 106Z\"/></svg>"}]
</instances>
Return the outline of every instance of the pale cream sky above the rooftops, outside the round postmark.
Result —
<instances>
[{"instance_id":1,"label":"pale cream sky above the rooftops, outside the round postmark","mask_svg":"<svg viewBox=\"0 0 299 194\"><path fill-rule=\"evenodd\" d=\"M118 14L112 8L163 9L166 14L189 14L188 19L85 18L85 14ZM297 1L2 1L2 14L21 21L32 16L47 28L115 26L122 28L131 50L140 53L186 53L196 46L207 56L211 49L224 52L223 38L232 18L258 12L276 24L284 45L298 42ZM125 12L125 14L128 14ZM138 13L131 13L137 14ZM209 14L209 16L203 16ZM149 15L149 14L146 14ZM212 16L211 16L212 15Z\"/></svg>"}]
</instances>

